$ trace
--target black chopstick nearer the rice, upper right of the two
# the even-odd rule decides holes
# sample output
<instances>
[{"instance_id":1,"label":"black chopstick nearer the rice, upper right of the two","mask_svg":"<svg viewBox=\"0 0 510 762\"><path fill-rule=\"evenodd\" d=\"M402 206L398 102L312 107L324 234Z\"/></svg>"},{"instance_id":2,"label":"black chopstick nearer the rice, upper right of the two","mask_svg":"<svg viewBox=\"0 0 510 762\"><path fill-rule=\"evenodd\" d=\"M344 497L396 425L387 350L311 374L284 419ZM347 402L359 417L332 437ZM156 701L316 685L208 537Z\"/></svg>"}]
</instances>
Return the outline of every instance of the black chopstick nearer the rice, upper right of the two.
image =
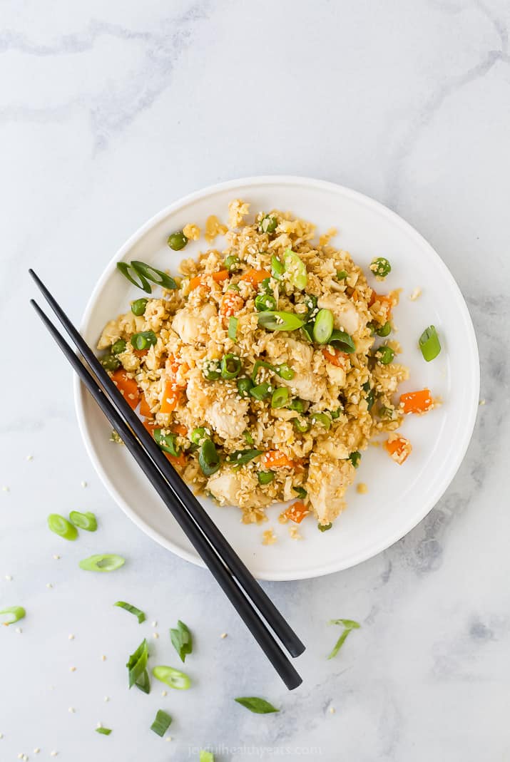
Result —
<instances>
[{"instance_id":1,"label":"black chopstick nearer the rice, upper right of the two","mask_svg":"<svg viewBox=\"0 0 510 762\"><path fill-rule=\"evenodd\" d=\"M136 413L130 408L129 405L127 405L123 395L120 394L117 387L114 385L114 383L111 382L110 376L108 376L107 372L102 367L94 352L91 351L91 348L88 347L88 344L76 330L75 326L72 325L72 322L56 302L56 299L54 299L54 297L51 295L50 291L44 285L42 280L40 280L40 278L37 276L37 274L34 273L32 269L29 270L29 273L31 277L34 278L34 281L37 283L37 287L40 289L41 293L43 293L44 298L47 299L47 302L50 304L53 312L55 312L59 321L66 329L69 337L75 344L75 347L78 348L80 354L82 354L82 357L85 358L86 362L88 363L88 367L91 368L101 383L101 386L111 399L111 402L113 402L117 407L117 410L121 412L124 420L127 421L127 423L130 425L131 429L136 434L136 437L138 437L140 442L143 443L143 447L145 448L146 452L149 453L149 456L152 458L154 463L156 463L156 466L158 466L159 471L162 472L162 474L165 476L165 479L172 486L172 490L175 492L175 495L177 495L177 498L181 501L184 510L188 511L191 514L197 524L207 535L207 538L213 545L214 549L216 549L217 552L221 555L223 562L225 562L225 564L229 567L233 576L237 579L245 593L253 601L262 616L264 616L265 620L269 626L271 626L271 629L273 629L276 636L281 640L284 647L287 648L287 651L290 653L290 655L299 656L302 654L305 650L303 642L300 641L296 633L290 627L289 623L287 623L287 621L284 619L284 616L281 615L280 611L278 611L274 606L272 600L268 597L267 594L265 594L265 591L262 590L258 582L252 576L249 569L246 568L245 564L243 564L241 559L239 559L239 556L236 554L233 547L229 545L226 538L210 518L209 514L207 514L207 511L205 511L204 507L202 507L199 501L197 501L197 498L195 498L193 492L191 492L188 486L183 482L175 469L173 469L171 466L168 466L168 462L165 459L165 456L161 450L159 450L159 447L152 439L150 434L143 427L140 418L138 418Z\"/></svg>"}]
</instances>

